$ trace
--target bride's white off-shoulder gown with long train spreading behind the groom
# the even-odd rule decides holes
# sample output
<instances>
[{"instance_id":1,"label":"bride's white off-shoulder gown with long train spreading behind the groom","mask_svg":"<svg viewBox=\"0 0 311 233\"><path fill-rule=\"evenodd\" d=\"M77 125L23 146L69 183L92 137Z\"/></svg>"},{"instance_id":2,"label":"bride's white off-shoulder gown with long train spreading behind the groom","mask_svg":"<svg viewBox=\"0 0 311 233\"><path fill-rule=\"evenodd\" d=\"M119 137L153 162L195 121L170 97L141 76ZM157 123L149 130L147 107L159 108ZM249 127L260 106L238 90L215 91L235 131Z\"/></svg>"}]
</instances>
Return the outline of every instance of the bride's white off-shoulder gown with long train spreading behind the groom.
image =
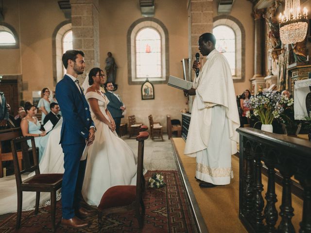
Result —
<instances>
[{"instance_id":1,"label":"bride's white off-shoulder gown with long train spreading behind the groom","mask_svg":"<svg viewBox=\"0 0 311 233\"><path fill-rule=\"evenodd\" d=\"M104 110L109 100L95 92L88 92L86 99L89 98L98 100L100 109L107 117ZM88 148L82 193L88 204L98 206L109 187L136 183L137 156L117 133L111 132L106 124L99 121L92 112L91 114L97 131L93 144ZM41 173L64 173L64 154L59 144L61 125L62 118L49 133L51 135L39 163ZM33 175L34 173L24 175L22 179L25 180ZM50 193L41 193L40 206L50 204L48 200L50 200ZM17 211L17 188L14 175L0 178L0 206L0 215ZM35 192L23 192L23 210L33 209L34 206Z\"/></svg>"}]
</instances>

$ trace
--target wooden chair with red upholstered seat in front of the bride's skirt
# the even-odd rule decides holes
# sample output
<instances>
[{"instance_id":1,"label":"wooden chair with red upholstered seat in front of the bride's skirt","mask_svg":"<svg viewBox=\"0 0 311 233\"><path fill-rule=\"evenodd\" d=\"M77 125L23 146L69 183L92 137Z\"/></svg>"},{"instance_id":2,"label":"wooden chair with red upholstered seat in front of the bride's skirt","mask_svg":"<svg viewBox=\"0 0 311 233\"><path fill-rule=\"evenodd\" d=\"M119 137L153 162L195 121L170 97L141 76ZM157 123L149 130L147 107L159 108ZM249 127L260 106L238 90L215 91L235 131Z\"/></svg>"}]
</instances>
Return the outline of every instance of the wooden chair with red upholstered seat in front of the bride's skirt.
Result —
<instances>
[{"instance_id":1,"label":"wooden chair with red upholstered seat in front of the bride's skirt","mask_svg":"<svg viewBox=\"0 0 311 233\"><path fill-rule=\"evenodd\" d=\"M143 192L145 190L145 178L143 176L144 161L144 140L149 133L140 132L136 137L138 141L138 163L137 163L137 180L136 185L118 185L110 187L103 195L98 206L98 226L101 229L103 215L127 212L135 210L139 227L144 225L145 206L143 202ZM141 209L141 211L140 211Z\"/></svg>"}]
</instances>

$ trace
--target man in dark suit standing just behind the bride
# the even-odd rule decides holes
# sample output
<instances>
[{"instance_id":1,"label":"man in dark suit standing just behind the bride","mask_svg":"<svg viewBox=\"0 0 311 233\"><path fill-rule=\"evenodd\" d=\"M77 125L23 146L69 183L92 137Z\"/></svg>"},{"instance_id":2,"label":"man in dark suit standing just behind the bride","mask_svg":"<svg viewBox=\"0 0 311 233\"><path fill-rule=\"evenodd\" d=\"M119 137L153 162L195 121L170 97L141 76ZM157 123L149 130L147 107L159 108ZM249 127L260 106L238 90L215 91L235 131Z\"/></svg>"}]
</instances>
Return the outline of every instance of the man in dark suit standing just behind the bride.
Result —
<instances>
[{"instance_id":1,"label":"man in dark suit standing just behind the bride","mask_svg":"<svg viewBox=\"0 0 311 233\"><path fill-rule=\"evenodd\" d=\"M112 83L106 83L107 92L105 93L105 95L109 100L107 108L116 123L116 132L119 135L121 118L124 117L122 116L122 112L125 110L125 106L122 103L120 96L113 93L113 88L114 87Z\"/></svg>"}]
</instances>

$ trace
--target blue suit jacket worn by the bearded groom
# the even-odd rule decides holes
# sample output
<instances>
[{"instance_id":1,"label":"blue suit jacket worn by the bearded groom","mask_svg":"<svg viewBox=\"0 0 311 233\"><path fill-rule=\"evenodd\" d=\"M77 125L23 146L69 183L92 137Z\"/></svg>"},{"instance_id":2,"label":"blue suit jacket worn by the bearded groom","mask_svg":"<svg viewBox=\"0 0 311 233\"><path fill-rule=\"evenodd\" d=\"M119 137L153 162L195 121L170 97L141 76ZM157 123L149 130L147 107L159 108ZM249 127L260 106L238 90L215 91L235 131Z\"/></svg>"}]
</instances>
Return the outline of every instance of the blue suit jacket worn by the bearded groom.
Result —
<instances>
[{"instance_id":1,"label":"blue suit jacket worn by the bearded groom","mask_svg":"<svg viewBox=\"0 0 311 233\"><path fill-rule=\"evenodd\" d=\"M63 116L60 143L62 145L85 143L89 128L94 126L94 122L83 91L80 93L72 79L65 75L57 83L55 95Z\"/></svg>"}]
</instances>

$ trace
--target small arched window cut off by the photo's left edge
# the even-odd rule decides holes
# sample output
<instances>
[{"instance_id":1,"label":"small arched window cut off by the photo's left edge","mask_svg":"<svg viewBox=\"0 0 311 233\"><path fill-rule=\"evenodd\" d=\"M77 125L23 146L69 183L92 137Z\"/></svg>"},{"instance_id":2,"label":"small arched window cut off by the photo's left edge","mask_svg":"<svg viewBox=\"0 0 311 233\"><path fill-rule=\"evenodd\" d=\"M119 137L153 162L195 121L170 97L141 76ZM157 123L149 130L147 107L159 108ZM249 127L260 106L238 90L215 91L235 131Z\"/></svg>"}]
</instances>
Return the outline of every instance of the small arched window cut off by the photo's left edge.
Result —
<instances>
[{"instance_id":1,"label":"small arched window cut off by the photo's left edge","mask_svg":"<svg viewBox=\"0 0 311 233\"><path fill-rule=\"evenodd\" d=\"M6 23L0 23L0 48L1 49L16 49L17 34L11 26Z\"/></svg>"}]
</instances>

